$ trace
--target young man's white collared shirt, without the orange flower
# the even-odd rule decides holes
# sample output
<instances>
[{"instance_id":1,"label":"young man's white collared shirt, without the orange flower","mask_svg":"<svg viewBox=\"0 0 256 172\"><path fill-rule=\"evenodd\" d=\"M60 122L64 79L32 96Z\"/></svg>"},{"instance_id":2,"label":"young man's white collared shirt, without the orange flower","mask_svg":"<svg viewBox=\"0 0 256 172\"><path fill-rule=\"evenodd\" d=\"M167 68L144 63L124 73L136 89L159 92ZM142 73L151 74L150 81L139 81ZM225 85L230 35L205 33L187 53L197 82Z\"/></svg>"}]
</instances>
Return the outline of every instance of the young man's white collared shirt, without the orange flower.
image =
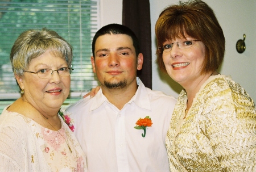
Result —
<instances>
[{"instance_id":1,"label":"young man's white collared shirt, without the orange flower","mask_svg":"<svg viewBox=\"0 0 256 172\"><path fill-rule=\"evenodd\" d=\"M139 85L134 97L119 110L98 91L68 108L75 135L84 150L88 171L170 171L165 146L174 97ZM152 126L135 129L139 118L150 116Z\"/></svg>"}]
</instances>

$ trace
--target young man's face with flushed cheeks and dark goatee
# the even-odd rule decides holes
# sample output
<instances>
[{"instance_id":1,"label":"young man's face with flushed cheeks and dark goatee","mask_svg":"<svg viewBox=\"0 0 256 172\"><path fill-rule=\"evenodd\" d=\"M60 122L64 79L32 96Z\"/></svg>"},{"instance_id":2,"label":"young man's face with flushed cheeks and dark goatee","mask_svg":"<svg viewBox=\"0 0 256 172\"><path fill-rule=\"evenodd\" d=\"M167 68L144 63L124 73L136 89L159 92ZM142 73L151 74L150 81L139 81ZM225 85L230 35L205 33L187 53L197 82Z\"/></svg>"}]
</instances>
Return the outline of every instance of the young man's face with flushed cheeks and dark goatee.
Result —
<instances>
[{"instance_id":1,"label":"young man's face with flushed cheeks and dark goatee","mask_svg":"<svg viewBox=\"0 0 256 172\"><path fill-rule=\"evenodd\" d=\"M95 43L95 57L91 57L93 72L102 86L123 89L136 83L137 69L142 68L143 57L138 59L133 40L125 34L102 35Z\"/></svg>"}]
</instances>

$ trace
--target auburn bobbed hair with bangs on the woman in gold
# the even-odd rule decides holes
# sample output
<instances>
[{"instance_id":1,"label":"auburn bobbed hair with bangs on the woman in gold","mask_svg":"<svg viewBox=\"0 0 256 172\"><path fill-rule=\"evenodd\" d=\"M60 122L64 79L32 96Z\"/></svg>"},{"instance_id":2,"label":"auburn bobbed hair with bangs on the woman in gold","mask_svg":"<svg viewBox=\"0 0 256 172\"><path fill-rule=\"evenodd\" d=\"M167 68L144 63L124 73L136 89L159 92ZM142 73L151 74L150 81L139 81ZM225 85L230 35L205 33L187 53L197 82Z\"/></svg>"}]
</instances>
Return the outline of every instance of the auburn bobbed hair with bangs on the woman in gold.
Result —
<instances>
[{"instance_id":1,"label":"auburn bobbed hair with bangs on the woman in gold","mask_svg":"<svg viewBox=\"0 0 256 172\"><path fill-rule=\"evenodd\" d=\"M171 5L159 15L155 25L158 47L167 40L183 38L185 33L205 45L205 60L201 73L214 72L223 61L225 37L213 10L203 1L179 2ZM162 53L156 51L156 62L167 72Z\"/></svg>"}]
</instances>

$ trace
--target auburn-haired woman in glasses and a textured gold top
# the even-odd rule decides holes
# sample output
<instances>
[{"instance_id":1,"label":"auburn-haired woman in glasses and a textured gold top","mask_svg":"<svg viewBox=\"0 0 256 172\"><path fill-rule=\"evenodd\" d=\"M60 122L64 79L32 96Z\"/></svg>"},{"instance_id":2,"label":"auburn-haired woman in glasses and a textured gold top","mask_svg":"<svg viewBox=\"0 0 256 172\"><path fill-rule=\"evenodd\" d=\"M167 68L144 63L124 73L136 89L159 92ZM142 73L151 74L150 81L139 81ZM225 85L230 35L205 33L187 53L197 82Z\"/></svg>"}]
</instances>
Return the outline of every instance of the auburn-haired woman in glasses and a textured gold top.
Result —
<instances>
[{"instance_id":1,"label":"auburn-haired woman in glasses and a textured gold top","mask_svg":"<svg viewBox=\"0 0 256 172\"><path fill-rule=\"evenodd\" d=\"M159 68L183 86L166 137L170 170L256 171L253 99L217 72L225 37L203 1L168 6L156 22Z\"/></svg>"}]
</instances>

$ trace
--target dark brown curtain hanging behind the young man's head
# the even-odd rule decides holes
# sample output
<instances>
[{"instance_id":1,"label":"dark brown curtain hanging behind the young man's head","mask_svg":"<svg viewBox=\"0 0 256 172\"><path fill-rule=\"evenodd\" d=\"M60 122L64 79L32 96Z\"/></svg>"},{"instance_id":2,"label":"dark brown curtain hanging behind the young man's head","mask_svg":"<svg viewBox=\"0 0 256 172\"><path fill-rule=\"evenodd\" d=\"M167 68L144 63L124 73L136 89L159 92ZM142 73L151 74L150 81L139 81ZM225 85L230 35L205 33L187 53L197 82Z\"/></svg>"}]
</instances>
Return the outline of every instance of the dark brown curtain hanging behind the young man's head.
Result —
<instances>
[{"instance_id":1,"label":"dark brown curtain hanging behind the young man's head","mask_svg":"<svg viewBox=\"0 0 256 172\"><path fill-rule=\"evenodd\" d=\"M152 89L152 51L151 51L151 23L149 0L123 0L122 24L129 27L137 35L141 53L143 53L143 67L137 76L144 85Z\"/></svg>"}]
</instances>

